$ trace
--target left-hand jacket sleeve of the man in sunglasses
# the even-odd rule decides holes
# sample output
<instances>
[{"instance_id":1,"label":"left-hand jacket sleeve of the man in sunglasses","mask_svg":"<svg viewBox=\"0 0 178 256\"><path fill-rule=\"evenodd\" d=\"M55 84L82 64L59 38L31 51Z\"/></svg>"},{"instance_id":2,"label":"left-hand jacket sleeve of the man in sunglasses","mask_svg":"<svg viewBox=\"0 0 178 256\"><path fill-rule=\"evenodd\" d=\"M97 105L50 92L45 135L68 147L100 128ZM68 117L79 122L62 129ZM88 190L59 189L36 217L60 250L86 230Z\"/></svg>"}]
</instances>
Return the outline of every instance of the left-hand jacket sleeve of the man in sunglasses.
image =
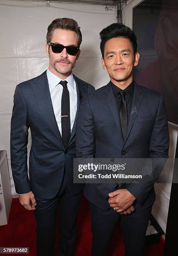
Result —
<instances>
[{"instance_id":1,"label":"left-hand jacket sleeve of the man in sunglasses","mask_svg":"<svg viewBox=\"0 0 178 256\"><path fill-rule=\"evenodd\" d=\"M18 194L30 192L27 166L28 111L22 90L18 85L14 94L10 131L10 156L15 190Z\"/></svg>"}]
</instances>

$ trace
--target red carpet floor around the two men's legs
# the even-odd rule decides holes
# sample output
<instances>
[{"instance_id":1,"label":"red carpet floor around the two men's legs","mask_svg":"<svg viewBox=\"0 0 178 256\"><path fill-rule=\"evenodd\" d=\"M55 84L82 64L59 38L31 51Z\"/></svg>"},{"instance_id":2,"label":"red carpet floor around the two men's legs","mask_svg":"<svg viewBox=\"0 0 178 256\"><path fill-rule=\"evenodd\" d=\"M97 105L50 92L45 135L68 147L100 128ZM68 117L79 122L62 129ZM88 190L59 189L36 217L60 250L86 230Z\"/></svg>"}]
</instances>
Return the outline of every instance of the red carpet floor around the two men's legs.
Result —
<instances>
[{"instance_id":1,"label":"red carpet floor around the two men's legs","mask_svg":"<svg viewBox=\"0 0 178 256\"><path fill-rule=\"evenodd\" d=\"M57 235L56 235L57 236ZM0 226L0 247L29 247L30 256L36 256L35 218L32 211L25 210L18 198L13 199L8 225ZM83 197L78 215L78 236L75 256L91 254L90 215L88 203ZM163 256L164 239L159 244L145 248L144 256ZM56 246L57 256L57 246ZM15 254L6 254L15 255ZM17 255L17 254L16 254ZM114 239L110 246L111 256L124 256L122 231L119 223L114 231Z\"/></svg>"}]
</instances>

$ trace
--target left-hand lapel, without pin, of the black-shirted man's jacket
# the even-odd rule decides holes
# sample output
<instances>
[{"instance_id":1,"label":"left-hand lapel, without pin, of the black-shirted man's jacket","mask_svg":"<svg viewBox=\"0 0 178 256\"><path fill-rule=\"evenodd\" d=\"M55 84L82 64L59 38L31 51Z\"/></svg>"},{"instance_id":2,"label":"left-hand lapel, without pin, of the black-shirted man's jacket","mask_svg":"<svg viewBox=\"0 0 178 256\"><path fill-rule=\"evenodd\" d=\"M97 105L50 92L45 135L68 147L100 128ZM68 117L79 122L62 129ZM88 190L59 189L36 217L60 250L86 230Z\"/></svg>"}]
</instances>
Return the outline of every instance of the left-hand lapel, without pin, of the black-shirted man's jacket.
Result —
<instances>
[{"instance_id":1,"label":"left-hand lapel, without pin, of the black-shirted man's jacket","mask_svg":"<svg viewBox=\"0 0 178 256\"><path fill-rule=\"evenodd\" d=\"M114 96L113 90L110 86L110 82L105 86L105 100L106 100L107 105L110 109L110 112L113 116L115 124L118 127L118 130L121 131L118 107L117 107L117 104L115 101L115 96ZM121 136L121 137L123 138L123 136Z\"/></svg>"}]
</instances>

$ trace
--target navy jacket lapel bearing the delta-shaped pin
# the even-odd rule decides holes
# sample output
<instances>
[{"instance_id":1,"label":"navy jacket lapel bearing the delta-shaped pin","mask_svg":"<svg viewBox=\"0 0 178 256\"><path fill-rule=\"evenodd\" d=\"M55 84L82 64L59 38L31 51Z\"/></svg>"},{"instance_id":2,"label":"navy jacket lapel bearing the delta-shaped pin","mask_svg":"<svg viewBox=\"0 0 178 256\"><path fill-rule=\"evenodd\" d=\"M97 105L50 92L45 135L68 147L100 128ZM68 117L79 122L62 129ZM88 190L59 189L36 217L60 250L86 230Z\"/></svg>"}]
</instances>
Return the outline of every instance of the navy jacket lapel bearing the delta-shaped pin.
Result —
<instances>
[{"instance_id":1,"label":"navy jacket lapel bearing the delta-shaped pin","mask_svg":"<svg viewBox=\"0 0 178 256\"><path fill-rule=\"evenodd\" d=\"M130 109L130 117L128 120L128 127L127 127L127 132L125 134L125 139L124 139L124 145L125 142L127 141L127 138L131 132L131 129L133 127L133 124L135 122L135 118L137 116L138 110L140 108L140 104L142 102L143 99L143 90L141 89L141 87L135 82L135 86L134 86L134 91L133 91L133 102L132 102L132 106ZM135 111L133 111L135 110Z\"/></svg>"}]
</instances>

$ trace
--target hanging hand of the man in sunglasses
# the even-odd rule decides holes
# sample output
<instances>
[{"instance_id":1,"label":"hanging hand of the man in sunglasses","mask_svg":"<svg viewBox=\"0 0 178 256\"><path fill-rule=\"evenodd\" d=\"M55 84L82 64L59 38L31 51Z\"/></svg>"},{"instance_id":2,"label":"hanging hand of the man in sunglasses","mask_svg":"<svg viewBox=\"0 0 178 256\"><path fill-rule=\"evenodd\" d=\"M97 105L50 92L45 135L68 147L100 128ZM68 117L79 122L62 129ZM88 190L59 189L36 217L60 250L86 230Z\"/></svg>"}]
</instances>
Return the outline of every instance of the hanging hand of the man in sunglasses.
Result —
<instances>
[{"instance_id":1,"label":"hanging hand of the man in sunglasses","mask_svg":"<svg viewBox=\"0 0 178 256\"><path fill-rule=\"evenodd\" d=\"M27 210L36 210L37 205L35 196L32 191L19 196L20 204Z\"/></svg>"}]
</instances>

